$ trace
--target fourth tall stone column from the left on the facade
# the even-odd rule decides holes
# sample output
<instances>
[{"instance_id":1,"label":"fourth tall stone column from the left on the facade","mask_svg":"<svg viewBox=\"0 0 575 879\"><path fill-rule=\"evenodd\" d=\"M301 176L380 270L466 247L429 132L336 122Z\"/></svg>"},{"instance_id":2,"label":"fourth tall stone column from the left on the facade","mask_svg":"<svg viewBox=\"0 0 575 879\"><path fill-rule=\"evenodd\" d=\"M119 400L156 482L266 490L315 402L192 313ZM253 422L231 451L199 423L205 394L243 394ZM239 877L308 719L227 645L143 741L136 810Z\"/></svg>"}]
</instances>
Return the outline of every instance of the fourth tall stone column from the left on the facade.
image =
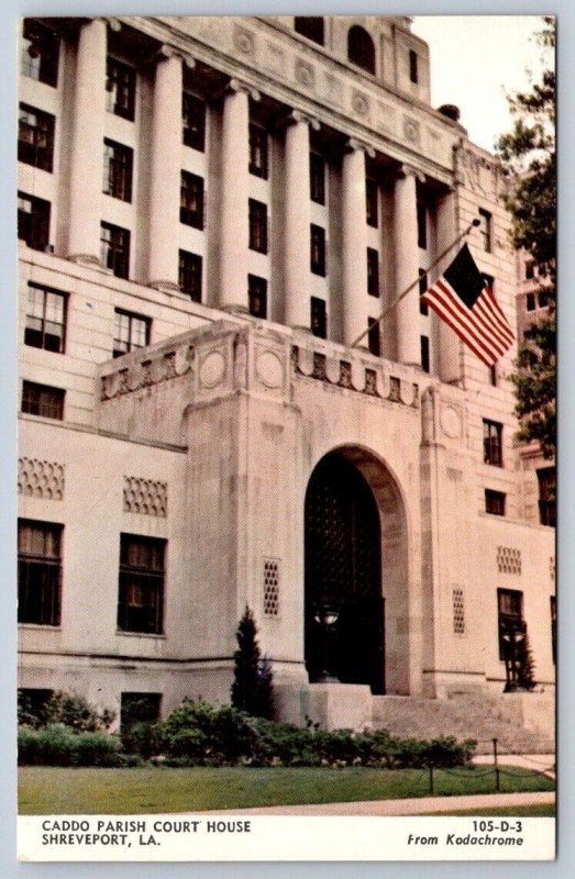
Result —
<instances>
[{"instance_id":1,"label":"fourth tall stone column from the left on the facade","mask_svg":"<svg viewBox=\"0 0 575 879\"><path fill-rule=\"evenodd\" d=\"M286 130L286 238L285 291L288 326L310 329L309 242L310 182L309 126L312 123L295 111ZM319 126L318 126L319 127Z\"/></svg>"}]
</instances>

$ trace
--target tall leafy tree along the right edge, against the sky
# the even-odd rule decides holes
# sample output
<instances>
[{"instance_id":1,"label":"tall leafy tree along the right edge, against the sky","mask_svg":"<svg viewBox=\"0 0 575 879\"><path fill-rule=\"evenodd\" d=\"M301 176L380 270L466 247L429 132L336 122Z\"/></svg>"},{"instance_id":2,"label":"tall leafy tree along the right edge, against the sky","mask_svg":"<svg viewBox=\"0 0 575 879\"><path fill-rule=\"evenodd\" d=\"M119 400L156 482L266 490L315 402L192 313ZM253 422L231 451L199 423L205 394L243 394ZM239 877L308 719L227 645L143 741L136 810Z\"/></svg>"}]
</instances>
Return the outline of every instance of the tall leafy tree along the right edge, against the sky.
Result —
<instances>
[{"instance_id":1,"label":"tall leafy tree along the right edge, against the sky","mask_svg":"<svg viewBox=\"0 0 575 879\"><path fill-rule=\"evenodd\" d=\"M543 19L538 34L546 49L555 45L554 20ZM545 69L531 90L508 98L511 132L497 144L509 178L505 203L511 213L511 241L538 267L549 313L520 345L516 372L518 439L537 441L546 458L555 455L555 71Z\"/></svg>"}]
</instances>

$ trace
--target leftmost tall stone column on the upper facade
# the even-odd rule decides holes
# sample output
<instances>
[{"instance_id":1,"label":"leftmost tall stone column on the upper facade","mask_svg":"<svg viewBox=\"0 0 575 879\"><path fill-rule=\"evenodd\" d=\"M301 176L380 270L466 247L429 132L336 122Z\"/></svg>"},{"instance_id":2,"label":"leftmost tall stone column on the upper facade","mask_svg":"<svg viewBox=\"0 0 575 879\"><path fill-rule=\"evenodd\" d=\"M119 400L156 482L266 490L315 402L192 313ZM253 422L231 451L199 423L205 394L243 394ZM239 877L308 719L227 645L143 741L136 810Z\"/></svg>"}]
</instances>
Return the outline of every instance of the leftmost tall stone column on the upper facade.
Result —
<instances>
[{"instance_id":1,"label":"leftmost tall stone column on the upper facade","mask_svg":"<svg viewBox=\"0 0 575 879\"><path fill-rule=\"evenodd\" d=\"M100 262L99 205L102 199L106 118L106 22L80 27L74 94L68 256Z\"/></svg>"}]
</instances>

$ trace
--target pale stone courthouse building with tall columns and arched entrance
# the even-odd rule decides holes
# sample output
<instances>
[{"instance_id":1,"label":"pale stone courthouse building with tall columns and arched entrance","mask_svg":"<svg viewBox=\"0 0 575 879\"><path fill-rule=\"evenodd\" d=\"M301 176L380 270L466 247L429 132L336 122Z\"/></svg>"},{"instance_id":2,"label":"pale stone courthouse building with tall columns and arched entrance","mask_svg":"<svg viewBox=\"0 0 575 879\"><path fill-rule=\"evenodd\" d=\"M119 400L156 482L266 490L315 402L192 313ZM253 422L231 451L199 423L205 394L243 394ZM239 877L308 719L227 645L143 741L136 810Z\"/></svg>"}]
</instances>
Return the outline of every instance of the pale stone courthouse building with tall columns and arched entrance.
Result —
<instances>
[{"instance_id":1,"label":"pale stone courthouse building with tall columns and arched entrance","mask_svg":"<svg viewBox=\"0 0 575 879\"><path fill-rule=\"evenodd\" d=\"M549 741L515 351L486 367L420 301L477 219L516 324L504 181L431 107L410 19L20 44L20 687L120 719L228 701L247 604L283 717ZM537 686L504 693L526 636Z\"/></svg>"}]
</instances>

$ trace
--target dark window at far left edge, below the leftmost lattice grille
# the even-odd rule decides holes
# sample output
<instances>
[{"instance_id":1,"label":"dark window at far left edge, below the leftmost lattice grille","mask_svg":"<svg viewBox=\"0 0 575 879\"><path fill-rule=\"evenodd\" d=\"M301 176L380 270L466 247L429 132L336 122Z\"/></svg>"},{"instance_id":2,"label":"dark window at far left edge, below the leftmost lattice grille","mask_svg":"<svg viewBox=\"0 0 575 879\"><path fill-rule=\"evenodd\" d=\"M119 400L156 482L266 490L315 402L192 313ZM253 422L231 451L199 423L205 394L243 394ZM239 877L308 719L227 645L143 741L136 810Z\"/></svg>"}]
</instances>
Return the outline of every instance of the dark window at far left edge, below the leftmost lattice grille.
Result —
<instances>
[{"instance_id":1,"label":"dark window at far left edge, below the leftmost lattice grille","mask_svg":"<svg viewBox=\"0 0 575 879\"><path fill-rule=\"evenodd\" d=\"M62 525L18 523L18 622L59 625Z\"/></svg>"}]
</instances>

